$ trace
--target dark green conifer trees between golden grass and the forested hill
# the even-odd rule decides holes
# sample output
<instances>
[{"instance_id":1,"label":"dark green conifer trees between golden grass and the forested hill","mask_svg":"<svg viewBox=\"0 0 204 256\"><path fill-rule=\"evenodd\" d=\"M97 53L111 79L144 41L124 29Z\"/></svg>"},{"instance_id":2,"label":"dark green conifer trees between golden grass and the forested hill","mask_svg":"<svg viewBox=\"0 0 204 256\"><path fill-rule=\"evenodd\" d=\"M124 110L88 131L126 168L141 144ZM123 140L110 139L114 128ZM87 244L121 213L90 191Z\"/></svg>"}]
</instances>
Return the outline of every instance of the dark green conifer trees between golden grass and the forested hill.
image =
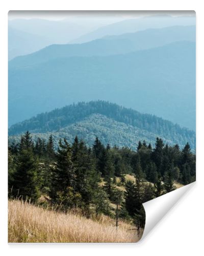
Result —
<instances>
[{"instance_id":1,"label":"dark green conifer trees between golden grass and the forested hill","mask_svg":"<svg viewBox=\"0 0 204 256\"><path fill-rule=\"evenodd\" d=\"M174 190L175 181L185 185L195 180L195 155L189 144L180 150L160 138L155 148L139 141L136 152L103 145L97 137L92 147L78 137L72 144L60 139L56 152L52 135L48 142L39 138L34 143L26 132L8 153L10 198L39 202L44 196L59 210L114 216L116 226L118 218L125 218L143 228L142 203Z\"/></svg>"}]
</instances>

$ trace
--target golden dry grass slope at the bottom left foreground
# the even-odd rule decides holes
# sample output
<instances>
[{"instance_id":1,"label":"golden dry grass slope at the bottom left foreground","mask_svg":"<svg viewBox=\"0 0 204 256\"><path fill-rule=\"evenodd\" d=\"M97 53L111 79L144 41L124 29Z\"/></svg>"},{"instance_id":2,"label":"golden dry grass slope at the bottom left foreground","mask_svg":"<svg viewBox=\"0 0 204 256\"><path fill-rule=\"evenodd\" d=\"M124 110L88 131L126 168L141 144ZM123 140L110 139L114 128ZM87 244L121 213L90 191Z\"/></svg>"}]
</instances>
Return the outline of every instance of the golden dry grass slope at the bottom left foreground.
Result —
<instances>
[{"instance_id":1,"label":"golden dry grass slope at the bottom left foreground","mask_svg":"<svg viewBox=\"0 0 204 256\"><path fill-rule=\"evenodd\" d=\"M46 210L27 202L8 203L8 242L137 242L132 225L101 216L94 221ZM140 233L140 237L142 232Z\"/></svg>"}]
</instances>

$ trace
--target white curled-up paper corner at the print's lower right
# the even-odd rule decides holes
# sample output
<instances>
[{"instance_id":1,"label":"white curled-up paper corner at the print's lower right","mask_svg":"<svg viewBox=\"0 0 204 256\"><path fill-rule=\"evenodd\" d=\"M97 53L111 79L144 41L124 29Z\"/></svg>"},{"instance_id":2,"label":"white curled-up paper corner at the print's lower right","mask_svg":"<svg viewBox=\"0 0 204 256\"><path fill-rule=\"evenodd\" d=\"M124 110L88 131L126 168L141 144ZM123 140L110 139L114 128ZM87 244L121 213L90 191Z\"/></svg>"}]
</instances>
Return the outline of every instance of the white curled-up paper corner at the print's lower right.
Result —
<instances>
[{"instance_id":1,"label":"white curled-up paper corner at the print's lower right","mask_svg":"<svg viewBox=\"0 0 204 256\"><path fill-rule=\"evenodd\" d=\"M152 199L143 203L146 221L142 238L142 242L148 233L157 225L158 222L167 214L167 212L184 196L184 194L195 185L195 182L178 188L161 197Z\"/></svg>"}]
</instances>

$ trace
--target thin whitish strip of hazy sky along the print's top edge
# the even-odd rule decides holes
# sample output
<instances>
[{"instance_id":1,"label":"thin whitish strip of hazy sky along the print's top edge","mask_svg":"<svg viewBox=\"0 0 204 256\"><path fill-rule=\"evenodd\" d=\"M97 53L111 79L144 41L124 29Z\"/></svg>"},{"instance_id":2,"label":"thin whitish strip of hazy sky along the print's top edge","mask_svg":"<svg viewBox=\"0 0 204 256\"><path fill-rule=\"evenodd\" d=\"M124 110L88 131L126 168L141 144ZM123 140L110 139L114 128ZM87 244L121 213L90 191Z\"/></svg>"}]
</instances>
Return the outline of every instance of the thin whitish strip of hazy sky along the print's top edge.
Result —
<instances>
[{"instance_id":1,"label":"thin whitish strip of hazy sky along the print's top edge","mask_svg":"<svg viewBox=\"0 0 204 256\"><path fill-rule=\"evenodd\" d=\"M113 18L117 20L137 18L148 15L195 15L194 11L9 11L8 19L15 18L43 18L62 20L67 18Z\"/></svg>"}]
</instances>

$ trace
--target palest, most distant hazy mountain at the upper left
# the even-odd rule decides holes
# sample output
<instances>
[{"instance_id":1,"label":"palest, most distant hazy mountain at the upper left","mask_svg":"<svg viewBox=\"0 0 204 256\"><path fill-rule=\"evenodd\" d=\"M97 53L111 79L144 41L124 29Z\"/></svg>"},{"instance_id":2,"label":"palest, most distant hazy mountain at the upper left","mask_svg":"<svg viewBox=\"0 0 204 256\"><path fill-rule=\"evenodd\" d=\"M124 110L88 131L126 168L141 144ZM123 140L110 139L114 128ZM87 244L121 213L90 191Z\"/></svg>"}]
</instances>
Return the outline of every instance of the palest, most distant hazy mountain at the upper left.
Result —
<instances>
[{"instance_id":1,"label":"palest, most distant hazy mountain at the upper left","mask_svg":"<svg viewBox=\"0 0 204 256\"><path fill-rule=\"evenodd\" d=\"M9 60L38 51L48 45L68 44L72 39L107 24L122 20L122 17L94 18L81 16L60 20L44 18L15 18L8 22Z\"/></svg>"}]
</instances>

